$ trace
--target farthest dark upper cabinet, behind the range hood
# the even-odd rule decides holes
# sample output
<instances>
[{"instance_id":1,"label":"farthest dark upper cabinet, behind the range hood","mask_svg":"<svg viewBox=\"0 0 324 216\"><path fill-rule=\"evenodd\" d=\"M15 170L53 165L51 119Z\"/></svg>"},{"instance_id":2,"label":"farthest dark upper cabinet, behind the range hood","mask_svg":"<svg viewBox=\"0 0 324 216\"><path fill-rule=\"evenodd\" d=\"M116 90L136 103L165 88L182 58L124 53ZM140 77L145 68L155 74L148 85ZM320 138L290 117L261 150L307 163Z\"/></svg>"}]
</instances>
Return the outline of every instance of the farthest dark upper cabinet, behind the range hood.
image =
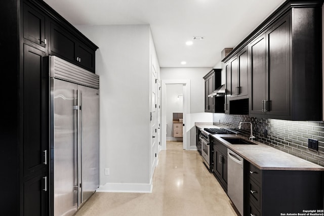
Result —
<instances>
[{"instance_id":1,"label":"farthest dark upper cabinet, behind the range hood","mask_svg":"<svg viewBox=\"0 0 324 216\"><path fill-rule=\"evenodd\" d=\"M221 69L213 69L204 76L205 112L224 112L224 96L211 96L221 86Z\"/></svg>"}]
</instances>

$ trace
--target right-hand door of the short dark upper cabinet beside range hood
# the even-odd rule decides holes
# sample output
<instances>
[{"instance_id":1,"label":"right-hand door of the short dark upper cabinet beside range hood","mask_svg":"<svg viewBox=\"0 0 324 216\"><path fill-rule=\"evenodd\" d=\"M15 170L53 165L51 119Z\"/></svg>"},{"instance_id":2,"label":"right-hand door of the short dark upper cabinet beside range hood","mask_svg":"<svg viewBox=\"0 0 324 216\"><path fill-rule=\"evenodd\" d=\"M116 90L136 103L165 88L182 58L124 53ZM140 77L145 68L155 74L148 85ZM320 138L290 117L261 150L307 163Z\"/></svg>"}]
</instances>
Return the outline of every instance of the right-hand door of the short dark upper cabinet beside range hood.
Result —
<instances>
[{"instance_id":1,"label":"right-hand door of the short dark upper cabinet beside range hood","mask_svg":"<svg viewBox=\"0 0 324 216\"><path fill-rule=\"evenodd\" d=\"M248 67L248 49L244 49L237 55L238 59L238 85L237 96L239 99L249 97L249 67Z\"/></svg>"}]
</instances>

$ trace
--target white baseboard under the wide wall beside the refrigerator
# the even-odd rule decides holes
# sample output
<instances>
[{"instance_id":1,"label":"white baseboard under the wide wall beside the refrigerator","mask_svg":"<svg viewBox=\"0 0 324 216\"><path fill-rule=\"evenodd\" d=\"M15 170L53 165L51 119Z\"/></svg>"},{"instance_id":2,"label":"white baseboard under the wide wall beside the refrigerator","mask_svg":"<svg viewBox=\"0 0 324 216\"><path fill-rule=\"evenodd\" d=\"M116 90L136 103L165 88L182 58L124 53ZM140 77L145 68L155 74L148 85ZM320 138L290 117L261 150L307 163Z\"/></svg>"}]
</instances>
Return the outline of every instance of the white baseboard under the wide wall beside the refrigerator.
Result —
<instances>
[{"instance_id":1,"label":"white baseboard under the wide wall beside the refrigerator","mask_svg":"<svg viewBox=\"0 0 324 216\"><path fill-rule=\"evenodd\" d=\"M106 183L99 186L96 192L118 192L118 193L152 193L153 185L151 184L123 184L123 183Z\"/></svg>"}]
</instances>

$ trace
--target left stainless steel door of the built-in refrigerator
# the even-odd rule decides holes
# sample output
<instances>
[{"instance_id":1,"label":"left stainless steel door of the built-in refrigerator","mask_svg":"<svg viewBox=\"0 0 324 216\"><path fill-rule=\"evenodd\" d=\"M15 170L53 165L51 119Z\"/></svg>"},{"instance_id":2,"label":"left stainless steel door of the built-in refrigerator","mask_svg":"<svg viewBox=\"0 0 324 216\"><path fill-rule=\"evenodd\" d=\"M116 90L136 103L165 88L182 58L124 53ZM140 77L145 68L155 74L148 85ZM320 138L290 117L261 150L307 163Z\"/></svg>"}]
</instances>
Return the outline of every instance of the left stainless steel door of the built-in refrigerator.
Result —
<instances>
[{"instance_id":1,"label":"left stainless steel door of the built-in refrigerator","mask_svg":"<svg viewBox=\"0 0 324 216\"><path fill-rule=\"evenodd\" d=\"M54 215L72 215L77 210L77 84L52 79L52 108L54 110L52 146Z\"/></svg>"}]
</instances>

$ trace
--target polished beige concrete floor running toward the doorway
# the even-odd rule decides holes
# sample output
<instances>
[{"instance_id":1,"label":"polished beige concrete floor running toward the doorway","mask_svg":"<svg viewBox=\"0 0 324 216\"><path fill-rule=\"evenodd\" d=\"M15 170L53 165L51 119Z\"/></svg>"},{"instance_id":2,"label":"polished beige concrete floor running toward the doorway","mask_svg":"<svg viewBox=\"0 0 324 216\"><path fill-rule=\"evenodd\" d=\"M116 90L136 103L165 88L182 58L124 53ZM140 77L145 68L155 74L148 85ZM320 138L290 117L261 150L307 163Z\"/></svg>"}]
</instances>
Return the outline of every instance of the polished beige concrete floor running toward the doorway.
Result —
<instances>
[{"instance_id":1,"label":"polished beige concrete floor running toward the doorway","mask_svg":"<svg viewBox=\"0 0 324 216\"><path fill-rule=\"evenodd\" d=\"M197 151L168 142L158 160L152 193L97 192L76 215L237 215Z\"/></svg>"}]
</instances>

